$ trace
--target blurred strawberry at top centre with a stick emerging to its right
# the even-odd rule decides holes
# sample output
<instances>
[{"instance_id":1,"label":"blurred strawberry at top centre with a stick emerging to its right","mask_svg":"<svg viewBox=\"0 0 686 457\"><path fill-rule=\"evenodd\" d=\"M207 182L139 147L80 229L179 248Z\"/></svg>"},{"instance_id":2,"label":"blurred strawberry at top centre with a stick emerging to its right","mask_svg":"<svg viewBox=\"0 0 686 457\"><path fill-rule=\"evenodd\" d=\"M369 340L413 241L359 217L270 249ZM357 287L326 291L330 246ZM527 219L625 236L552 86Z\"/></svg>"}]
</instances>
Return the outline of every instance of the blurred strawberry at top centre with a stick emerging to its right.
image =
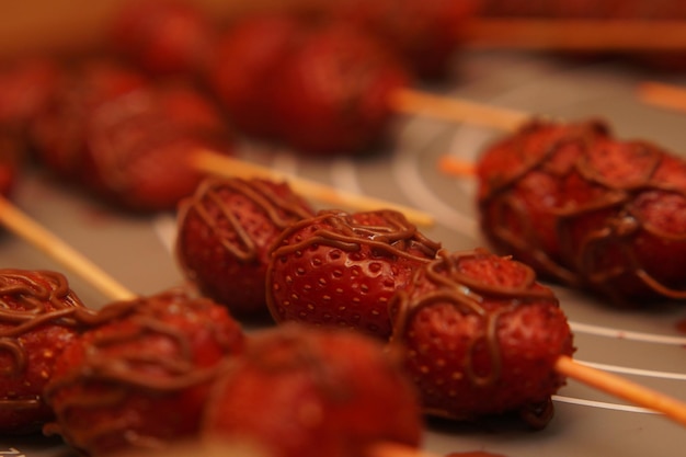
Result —
<instances>
[{"instance_id":1,"label":"blurred strawberry at top centre with a stick emerging to its right","mask_svg":"<svg viewBox=\"0 0 686 457\"><path fill-rule=\"evenodd\" d=\"M345 24L310 31L272 78L279 137L310 153L356 153L387 139L390 95L411 79L371 35Z\"/></svg>"}]
</instances>

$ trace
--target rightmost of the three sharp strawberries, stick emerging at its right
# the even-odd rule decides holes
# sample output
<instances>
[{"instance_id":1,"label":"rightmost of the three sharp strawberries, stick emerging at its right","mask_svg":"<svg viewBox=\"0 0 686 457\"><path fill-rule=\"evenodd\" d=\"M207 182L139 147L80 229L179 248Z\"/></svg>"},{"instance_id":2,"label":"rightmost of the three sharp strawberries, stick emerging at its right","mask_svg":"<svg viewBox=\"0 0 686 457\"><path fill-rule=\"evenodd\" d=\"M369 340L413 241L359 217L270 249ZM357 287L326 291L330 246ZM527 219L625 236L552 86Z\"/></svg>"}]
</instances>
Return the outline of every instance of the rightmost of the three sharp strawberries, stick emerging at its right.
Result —
<instances>
[{"instance_id":1,"label":"rightmost of the three sharp strawberries, stick emerging at its right","mask_svg":"<svg viewBox=\"0 0 686 457\"><path fill-rule=\"evenodd\" d=\"M441 251L390 304L391 344L428 414L473 419L519 412L550 419L564 377L553 368L574 351L567 318L526 265L484 250Z\"/></svg>"}]
</instances>

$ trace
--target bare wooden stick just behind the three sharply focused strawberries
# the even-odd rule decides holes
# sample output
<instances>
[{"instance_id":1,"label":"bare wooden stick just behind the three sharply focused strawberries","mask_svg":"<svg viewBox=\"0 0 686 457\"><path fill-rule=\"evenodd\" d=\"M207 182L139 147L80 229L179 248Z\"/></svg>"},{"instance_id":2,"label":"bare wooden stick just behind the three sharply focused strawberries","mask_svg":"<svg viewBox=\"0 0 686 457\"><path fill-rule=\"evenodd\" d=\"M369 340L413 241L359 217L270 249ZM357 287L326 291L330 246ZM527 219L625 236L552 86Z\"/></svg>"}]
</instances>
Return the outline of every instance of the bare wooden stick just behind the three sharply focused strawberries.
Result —
<instances>
[{"instance_id":1,"label":"bare wooden stick just behind the three sharply focused strawberries","mask_svg":"<svg viewBox=\"0 0 686 457\"><path fill-rule=\"evenodd\" d=\"M193 155L192 162L193 167L196 169L216 175L238 176L243 179L263 178L268 180L284 180L288 182L288 185L290 185L295 192L333 206L352 207L358 210L376 210L381 208L396 209L404 214L408 220L413 224L432 226L435 222L433 216L414 208L358 194L346 193L315 181L305 180L267 167L261 167L255 163L249 163L210 151L197 151Z\"/></svg>"}]
</instances>

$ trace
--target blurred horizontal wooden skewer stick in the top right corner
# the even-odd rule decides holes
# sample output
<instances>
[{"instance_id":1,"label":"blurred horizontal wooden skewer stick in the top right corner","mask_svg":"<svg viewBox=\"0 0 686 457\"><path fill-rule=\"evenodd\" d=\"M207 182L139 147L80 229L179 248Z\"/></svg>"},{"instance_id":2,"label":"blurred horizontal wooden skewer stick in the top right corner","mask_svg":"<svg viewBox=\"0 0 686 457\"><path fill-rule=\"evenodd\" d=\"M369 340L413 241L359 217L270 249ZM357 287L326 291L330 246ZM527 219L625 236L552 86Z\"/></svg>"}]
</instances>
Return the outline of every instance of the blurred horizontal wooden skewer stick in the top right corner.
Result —
<instances>
[{"instance_id":1,"label":"blurred horizontal wooden skewer stick in the top right corner","mask_svg":"<svg viewBox=\"0 0 686 457\"><path fill-rule=\"evenodd\" d=\"M686 21L489 19L460 30L467 46L544 50L686 50Z\"/></svg>"}]
</instances>

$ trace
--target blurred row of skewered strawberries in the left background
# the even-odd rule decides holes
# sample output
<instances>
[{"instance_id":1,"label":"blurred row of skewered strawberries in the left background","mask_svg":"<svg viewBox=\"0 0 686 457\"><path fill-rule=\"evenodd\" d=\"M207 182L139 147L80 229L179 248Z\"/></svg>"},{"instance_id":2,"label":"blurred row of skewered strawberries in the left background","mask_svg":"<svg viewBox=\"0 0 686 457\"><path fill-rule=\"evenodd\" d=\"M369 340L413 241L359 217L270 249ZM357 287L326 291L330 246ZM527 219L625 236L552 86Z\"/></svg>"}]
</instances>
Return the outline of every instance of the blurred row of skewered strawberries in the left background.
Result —
<instances>
[{"instance_id":1,"label":"blurred row of skewered strawberries in the left background","mask_svg":"<svg viewBox=\"0 0 686 457\"><path fill-rule=\"evenodd\" d=\"M116 207L173 209L202 179L192 153L232 148L220 111L190 82L153 82L110 58L20 60L0 78L3 193L35 158Z\"/></svg>"}]
</instances>

